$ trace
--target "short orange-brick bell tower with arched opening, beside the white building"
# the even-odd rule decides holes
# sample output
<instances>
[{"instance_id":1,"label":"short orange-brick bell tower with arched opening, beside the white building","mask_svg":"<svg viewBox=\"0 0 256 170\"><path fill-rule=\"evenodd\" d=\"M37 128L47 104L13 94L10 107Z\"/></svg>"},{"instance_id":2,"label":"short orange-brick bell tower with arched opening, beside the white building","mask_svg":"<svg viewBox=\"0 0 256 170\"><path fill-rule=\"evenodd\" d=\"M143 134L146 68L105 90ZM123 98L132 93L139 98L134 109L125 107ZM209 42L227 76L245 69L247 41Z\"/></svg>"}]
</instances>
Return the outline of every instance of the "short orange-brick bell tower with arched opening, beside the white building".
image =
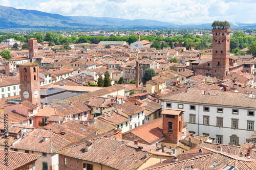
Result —
<instances>
[{"instance_id":1,"label":"short orange-brick bell tower with arched opening, beside the white building","mask_svg":"<svg viewBox=\"0 0 256 170\"><path fill-rule=\"evenodd\" d=\"M163 134L165 139L179 143L182 138L182 110L164 109L163 114Z\"/></svg>"}]
</instances>

